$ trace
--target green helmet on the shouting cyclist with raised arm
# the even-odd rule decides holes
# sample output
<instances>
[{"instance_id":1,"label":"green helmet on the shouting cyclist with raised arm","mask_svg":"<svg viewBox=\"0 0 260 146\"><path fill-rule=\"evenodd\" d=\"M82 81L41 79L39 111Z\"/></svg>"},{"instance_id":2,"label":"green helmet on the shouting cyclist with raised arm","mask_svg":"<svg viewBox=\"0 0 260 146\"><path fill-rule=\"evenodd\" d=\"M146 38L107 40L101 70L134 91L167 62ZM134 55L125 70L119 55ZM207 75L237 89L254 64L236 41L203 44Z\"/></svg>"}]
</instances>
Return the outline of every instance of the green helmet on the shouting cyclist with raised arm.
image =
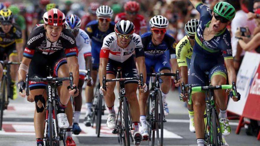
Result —
<instances>
[{"instance_id":1,"label":"green helmet on the shouting cyclist with raised arm","mask_svg":"<svg viewBox=\"0 0 260 146\"><path fill-rule=\"evenodd\" d=\"M232 21L235 17L235 8L231 4L224 1L218 2L214 6L213 12L228 19L229 21Z\"/></svg>"}]
</instances>

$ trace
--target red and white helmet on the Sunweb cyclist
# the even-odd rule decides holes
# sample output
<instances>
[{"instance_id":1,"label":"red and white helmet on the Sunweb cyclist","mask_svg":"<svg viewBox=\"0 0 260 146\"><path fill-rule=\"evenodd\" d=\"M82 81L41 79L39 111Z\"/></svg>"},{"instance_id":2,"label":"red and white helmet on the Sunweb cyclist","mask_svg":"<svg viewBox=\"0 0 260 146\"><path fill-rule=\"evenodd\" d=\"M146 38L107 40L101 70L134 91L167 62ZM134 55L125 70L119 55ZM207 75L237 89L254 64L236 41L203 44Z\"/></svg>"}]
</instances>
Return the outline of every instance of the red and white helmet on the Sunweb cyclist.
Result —
<instances>
[{"instance_id":1,"label":"red and white helmet on the Sunweb cyclist","mask_svg":"<svg viewBox=\"0 0 260 146\"><path fill-rule=\"evenodd\" d=\"M45 24L52 26L62 26L65 23L65 15L61 10L53 8L43 14L43 21Z\"/></svg>"}]
</instances>

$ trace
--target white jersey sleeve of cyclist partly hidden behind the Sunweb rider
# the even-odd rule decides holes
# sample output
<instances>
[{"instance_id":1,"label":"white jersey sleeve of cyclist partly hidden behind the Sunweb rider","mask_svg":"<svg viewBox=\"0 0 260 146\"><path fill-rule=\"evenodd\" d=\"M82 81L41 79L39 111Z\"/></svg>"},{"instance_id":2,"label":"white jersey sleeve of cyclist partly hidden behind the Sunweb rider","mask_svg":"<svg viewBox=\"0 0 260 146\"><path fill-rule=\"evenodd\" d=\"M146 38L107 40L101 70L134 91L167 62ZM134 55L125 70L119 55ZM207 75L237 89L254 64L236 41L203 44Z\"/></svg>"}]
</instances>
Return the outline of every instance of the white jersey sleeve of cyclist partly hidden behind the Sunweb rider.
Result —
<instances>
[{"instance_id":1,"label":"white jersey sleeve of cyclist partly hidden behind the Sunweb rider","mask_svg":"<svg viewBox=\"0 0 260 146\"><path fill-rule=\"evenodd\" d=\"M84 58L86 58L88 56L91 56L91 45L90 45L90 38L89 38L89 36L84 31L80 32L79 35L80 35L80 37L82 39L81 47L82 47L82 51L83 51L83 54L84 54Z\"/></svg>"}]
</instances>

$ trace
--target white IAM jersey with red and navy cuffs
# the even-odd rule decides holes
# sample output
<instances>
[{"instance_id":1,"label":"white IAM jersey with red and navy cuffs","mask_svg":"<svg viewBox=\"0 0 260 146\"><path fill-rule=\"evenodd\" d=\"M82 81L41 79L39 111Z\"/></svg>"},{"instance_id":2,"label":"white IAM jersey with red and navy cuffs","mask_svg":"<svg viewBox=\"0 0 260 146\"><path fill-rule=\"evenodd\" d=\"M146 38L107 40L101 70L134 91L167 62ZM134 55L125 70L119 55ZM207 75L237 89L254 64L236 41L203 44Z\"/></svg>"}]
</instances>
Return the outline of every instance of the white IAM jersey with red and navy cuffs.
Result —
<instances>
[{"instance_id":1,"label":"white IAM jersey with red and navy cuffs","mask_svg":"<svg viewBox=\"0 0 260 146\"><path fill-rule=\"evenodd\" d=\"M134 33L129 45L126 48L121 48L117 44L116 33L112 32L104 38L100 58L110 58L123 63L133 55L134 51L136 57L144 56L142 40L139 35Z\"/></svg>"}]
</instances>

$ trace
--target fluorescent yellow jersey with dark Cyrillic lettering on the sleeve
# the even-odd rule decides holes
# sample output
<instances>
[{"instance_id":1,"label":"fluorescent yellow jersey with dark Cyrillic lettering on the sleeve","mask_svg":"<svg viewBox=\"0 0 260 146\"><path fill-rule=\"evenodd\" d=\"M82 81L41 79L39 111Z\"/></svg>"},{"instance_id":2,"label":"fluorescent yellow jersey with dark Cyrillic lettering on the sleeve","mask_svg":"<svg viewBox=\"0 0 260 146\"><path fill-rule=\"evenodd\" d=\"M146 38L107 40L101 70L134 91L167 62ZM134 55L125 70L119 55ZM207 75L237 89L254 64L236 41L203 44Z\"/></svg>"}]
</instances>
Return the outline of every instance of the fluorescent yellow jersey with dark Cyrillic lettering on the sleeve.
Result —
<instances>
[{"instance_id":1,"label":"fluorescent yellow jersey with dark Cyrillic lettering on the sleeve","mask_svg":"<svg viewBox=\"0 0 260 146\"><path fill-rule=\"evenodd\" d=\"M191 55L193 53L193 49L191 43L187 37L183 37L180 42L176 45L176 57L178 66L187 66L186 57L191 59Z\"/></svg>"}]
</instances>

